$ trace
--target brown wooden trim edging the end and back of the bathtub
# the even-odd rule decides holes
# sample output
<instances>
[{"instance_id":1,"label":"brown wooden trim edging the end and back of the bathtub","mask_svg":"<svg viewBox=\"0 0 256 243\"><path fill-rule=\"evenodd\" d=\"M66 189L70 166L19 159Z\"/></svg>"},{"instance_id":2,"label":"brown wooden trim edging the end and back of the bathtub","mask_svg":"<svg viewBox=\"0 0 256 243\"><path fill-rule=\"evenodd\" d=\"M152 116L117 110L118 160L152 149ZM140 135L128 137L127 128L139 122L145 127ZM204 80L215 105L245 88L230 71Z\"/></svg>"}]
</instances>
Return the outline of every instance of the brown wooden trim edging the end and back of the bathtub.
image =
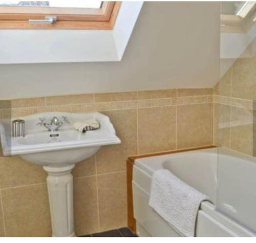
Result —
<instances>
[{"instance_id":1,"label":"brown wooden trim edging the end and back of the bathtub","mask_svg":"<svg viewBox=\"0 0 256 243\"><path fill-rule=\"evenodd\" d=\"M136 233L136 220L134 218L134 211L133 211L133 166L136 159L139 158L146 158L146 157L152 157L152 156L161 156L164 154L170 154L170 153L179 153L179 152L186 152L186 151L193 151L193 150L199 150L199 149L206 149L206 148L216 148L215 145L208 145L208 146L202 146L202 147L195 147L195 148L184 148L184 149L176 149L176 150L170 150L165 152L158 152L158 153L148 153L148 154L142 154L139 156L132 156L129 157L126 161L126 178L127 178L127 225L128 227Z\"/></svg>"}]
</instances>

